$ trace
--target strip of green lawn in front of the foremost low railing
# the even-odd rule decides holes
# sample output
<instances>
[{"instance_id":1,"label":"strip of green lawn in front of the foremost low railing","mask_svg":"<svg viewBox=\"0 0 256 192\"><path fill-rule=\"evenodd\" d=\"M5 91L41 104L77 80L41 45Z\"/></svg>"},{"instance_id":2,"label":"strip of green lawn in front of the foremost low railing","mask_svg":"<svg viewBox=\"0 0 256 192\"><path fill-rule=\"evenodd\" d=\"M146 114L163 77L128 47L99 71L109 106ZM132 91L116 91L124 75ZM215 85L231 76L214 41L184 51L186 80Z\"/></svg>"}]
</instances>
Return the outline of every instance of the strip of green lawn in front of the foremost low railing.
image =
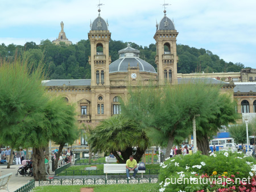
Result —
<instances>
[{"instance_id":1,"label":"strip of green lawn in front of the foremost low railing","mask_svg":"<svg viewBox=\"0 0 256 192\"><path fill-rule=\"evenodd\" d=\"M159 191L159 183L141 183L141 184L119 184L119 185L73 185L73 186L43 186L36 187L33 192L80 192L82 187L93 187L94 192L109 192L109 191Z\"/></svg>"}]
</instances>

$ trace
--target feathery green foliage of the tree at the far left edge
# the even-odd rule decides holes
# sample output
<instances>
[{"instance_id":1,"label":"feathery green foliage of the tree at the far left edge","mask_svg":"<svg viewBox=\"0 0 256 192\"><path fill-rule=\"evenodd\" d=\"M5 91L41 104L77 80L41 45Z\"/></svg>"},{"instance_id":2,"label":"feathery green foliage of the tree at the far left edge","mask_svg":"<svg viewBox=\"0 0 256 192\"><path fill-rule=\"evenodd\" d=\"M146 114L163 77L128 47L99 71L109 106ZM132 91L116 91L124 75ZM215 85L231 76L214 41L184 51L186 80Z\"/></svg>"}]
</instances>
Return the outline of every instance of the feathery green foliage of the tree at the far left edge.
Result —
<instances>
[{"instance_id":1,"label":"feathery green foliage of the tree at the far left edge","mask_svg":"<svg viewBox=\"0 0 256 192\"><path fill-rule=\"evenodd\" d=\"M13 147L19 130L35 126L47 98L44 97L42 67L31 70L27 62L1 60L0 66L0 130L2 143ZM18 136L16 136L17 134ZM31 144L32 145L32 144Z\"/></svg>"}]
</instances>

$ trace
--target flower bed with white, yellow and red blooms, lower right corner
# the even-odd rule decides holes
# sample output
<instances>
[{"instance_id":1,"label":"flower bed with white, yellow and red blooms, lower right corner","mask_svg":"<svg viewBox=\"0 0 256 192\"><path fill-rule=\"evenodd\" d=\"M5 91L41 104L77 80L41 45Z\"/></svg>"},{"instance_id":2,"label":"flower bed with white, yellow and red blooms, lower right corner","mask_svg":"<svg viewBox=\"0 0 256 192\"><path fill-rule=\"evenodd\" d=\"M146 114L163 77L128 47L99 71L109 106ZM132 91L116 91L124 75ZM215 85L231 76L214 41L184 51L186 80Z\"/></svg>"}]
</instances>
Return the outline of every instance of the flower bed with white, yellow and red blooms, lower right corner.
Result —
<instances>
[{"instance_id":1,"label":"flower bed with white, yellow and red blooms, lower right corner","mask_svg":"<svg viewBox=\"0 0 256 192\"><path fill-rule=\"evenodd\" d=\"M159 191L256 192L256 161L242 153L177 156L160 166Z\"/></svg>"}]
</instances>

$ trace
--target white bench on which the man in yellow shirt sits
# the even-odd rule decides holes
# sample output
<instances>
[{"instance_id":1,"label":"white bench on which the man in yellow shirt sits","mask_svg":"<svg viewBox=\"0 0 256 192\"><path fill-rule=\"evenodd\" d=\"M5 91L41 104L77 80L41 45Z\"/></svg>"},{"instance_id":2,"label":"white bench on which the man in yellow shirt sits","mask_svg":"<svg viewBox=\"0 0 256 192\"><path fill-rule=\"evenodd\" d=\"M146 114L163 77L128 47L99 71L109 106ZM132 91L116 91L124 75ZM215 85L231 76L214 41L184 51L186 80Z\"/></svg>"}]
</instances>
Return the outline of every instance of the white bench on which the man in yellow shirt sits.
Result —
<instances>
[{"instance_id":1,"label":"white bench on which the man in yellow shirt sits","mask_svg":"<svg viewBox=\"0 0 256 192\"><path fill-rule=\"evenodd\" d=\"M137 168L139 164L137 164ZM106 173L106 179L108 178L108 173L126 173L126 164L104 164L104 173ZM130 170L129 173L134 173L133 170ZM138 170L137 173L141 173L141 178L143 178L143 173L146 173L145 170Z\"/></svg>"}]
</instances>

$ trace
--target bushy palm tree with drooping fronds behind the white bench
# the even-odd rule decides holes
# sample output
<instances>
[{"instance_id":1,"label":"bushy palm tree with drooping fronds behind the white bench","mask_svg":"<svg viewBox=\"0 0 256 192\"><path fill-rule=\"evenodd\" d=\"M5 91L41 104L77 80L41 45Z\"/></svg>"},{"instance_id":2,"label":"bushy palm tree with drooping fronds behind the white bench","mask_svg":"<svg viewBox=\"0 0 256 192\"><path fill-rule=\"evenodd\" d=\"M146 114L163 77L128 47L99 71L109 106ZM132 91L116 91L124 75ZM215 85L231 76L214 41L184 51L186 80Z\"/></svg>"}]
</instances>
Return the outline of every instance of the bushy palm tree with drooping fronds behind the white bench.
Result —
<instances>
[{"instance_id":1,"label":"bushy palm tree with drooping fronds behind the white bench","mask_svg":"<svg viewBox=\"0 0 256 192\"><path fill-rule=\"evenodd\" d=\"M123 115L115 115L102 121L90 131L88 143L94 153L111 152L119 163L125 163L130 155L137 162L141 161L144 151L150 146L150 141L139 123Z\"/></svg>"}]
</instances>

